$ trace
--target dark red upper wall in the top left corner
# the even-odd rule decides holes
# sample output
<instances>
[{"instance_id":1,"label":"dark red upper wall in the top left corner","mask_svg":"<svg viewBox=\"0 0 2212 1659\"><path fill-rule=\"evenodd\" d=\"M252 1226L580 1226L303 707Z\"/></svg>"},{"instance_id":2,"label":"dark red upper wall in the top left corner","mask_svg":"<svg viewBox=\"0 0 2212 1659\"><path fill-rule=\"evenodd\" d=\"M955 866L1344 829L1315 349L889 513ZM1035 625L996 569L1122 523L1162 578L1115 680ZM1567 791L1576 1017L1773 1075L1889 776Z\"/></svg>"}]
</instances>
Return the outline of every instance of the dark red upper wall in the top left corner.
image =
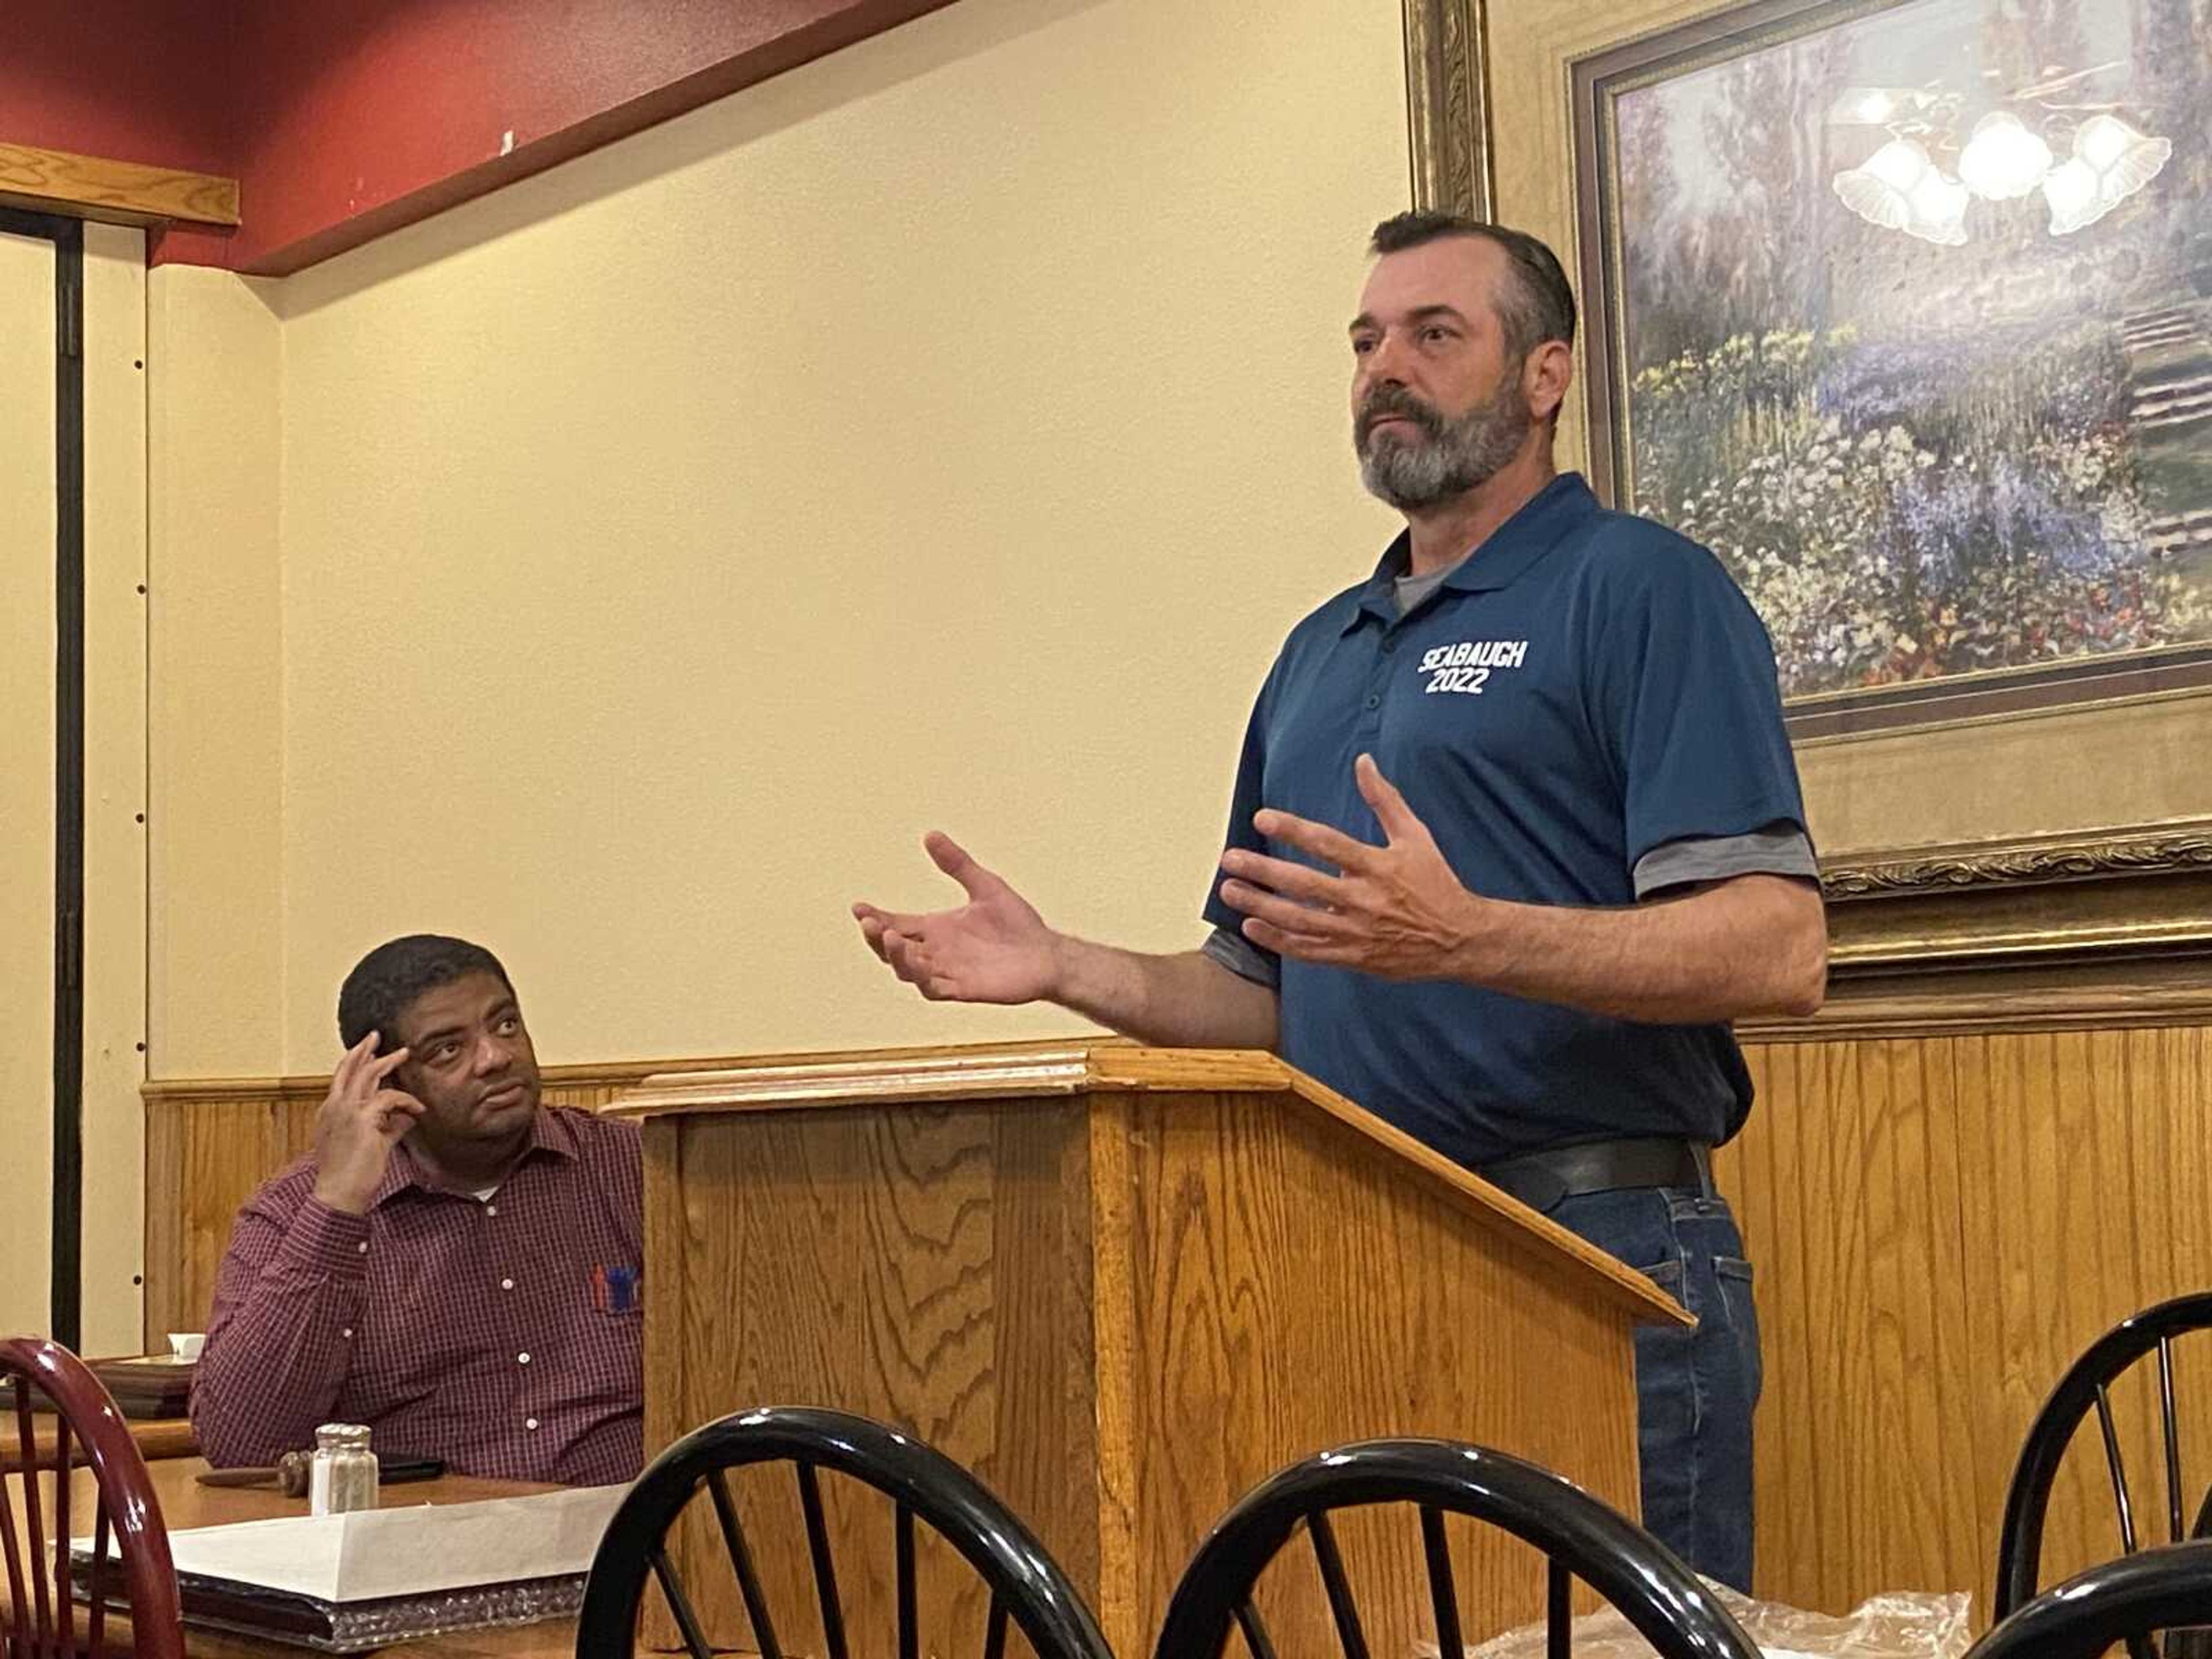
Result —
<instances>
[{"instance_id":1,"label":"dark red upper wall in the top left corner","mask_svg":"<svg viewBox=\"0 0 2212 1659\"><path fill-rule=\"evenodd\" d=\"M0 139L232 175L155 259L283 274L940 4L9 0Z\"/></svg>"}]
</instances>

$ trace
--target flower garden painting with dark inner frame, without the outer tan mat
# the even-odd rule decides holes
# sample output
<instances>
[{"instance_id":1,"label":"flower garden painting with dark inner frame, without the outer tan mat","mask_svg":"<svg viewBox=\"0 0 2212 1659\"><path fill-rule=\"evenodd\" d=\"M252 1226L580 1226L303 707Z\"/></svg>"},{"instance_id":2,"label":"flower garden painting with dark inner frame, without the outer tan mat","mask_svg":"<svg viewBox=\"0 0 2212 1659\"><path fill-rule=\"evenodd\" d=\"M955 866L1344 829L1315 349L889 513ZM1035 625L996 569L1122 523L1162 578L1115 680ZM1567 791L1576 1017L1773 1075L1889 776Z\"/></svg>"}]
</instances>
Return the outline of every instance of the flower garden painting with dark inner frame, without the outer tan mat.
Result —
<instances>
[{"instance_id":1,"label":"flower garden painting with dark inner frame, without the outer tan mat","mask_svg":"<svg viewBox=\"0 0 2212 1659\"><path fill-rule=\"evenodd\" d=\"M1615 500L1794 712L2212 659L2212 0L1759 15L1593 82Z\"/></svg>"}]
</instances>

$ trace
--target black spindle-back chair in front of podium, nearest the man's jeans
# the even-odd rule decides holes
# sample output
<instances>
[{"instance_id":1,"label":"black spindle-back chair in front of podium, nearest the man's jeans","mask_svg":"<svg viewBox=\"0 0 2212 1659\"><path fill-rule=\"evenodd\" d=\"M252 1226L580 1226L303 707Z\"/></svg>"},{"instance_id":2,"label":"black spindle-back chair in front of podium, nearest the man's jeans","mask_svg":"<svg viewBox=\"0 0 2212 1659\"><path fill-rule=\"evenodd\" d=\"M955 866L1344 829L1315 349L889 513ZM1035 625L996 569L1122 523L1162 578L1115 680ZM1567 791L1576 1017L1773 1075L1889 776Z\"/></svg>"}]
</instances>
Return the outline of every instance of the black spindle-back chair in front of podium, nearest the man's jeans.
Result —
<instances>
[{"instance_id":1,"label":"black spindle-back chair in front of podium, nearest the man's jeans","mask_svg":"<svg viewBox=\"0 0 2212 1659\"><path fill-rule=\"evenodd\" d=\"M1413 1504L1427 1555L1429 1613L1442 1659L1464 1659L1444 1515L1473 1515L1546 1557L1551 1659L1571 1655L1571 1588L1593 1586L1661 1659L1759 1659L1743 1628L1659 1540L1520 1458L1451 1440L1367 1440L1270 1475L1214 1526L1183 1568L1155 1659L1221 1659L1230 1630L1252 1659L1274 1659L1254 1606L1261 1573L1305 1531L1345 1659L1367 1659L1360 1610L1329 1513Z\"/></svg>"}]
</instances>

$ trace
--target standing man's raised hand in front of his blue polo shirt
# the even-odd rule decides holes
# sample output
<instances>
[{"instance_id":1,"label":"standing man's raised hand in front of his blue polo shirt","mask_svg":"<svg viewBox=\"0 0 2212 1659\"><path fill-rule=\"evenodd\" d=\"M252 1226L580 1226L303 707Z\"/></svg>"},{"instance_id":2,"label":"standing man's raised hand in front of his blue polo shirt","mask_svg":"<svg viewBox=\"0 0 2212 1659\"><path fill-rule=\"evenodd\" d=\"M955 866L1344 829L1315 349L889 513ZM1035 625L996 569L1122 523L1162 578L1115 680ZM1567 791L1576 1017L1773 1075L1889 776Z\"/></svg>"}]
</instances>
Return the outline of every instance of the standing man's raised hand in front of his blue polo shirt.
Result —
<instances>
[{"instance_id":1,"label":"standing man's raised hand in front of his blue polo shirt","mask_svg":"<svg viewBox=\"0 0 2212 1659\"><path fill-rule=\"evenodd\" d=\"M1287 812L1259 812L1252 823L1263 836L1338 874L1232 849L1221 858L1228 872L1221 898L1245 914L1243 936L1279 956L1385 980L1460 978L1484 900L1451 874L1436 836L1371 757L1363 754L1352 774L1383 825L1385 845L1371 847Z\"/></svg>"}]
</instances>

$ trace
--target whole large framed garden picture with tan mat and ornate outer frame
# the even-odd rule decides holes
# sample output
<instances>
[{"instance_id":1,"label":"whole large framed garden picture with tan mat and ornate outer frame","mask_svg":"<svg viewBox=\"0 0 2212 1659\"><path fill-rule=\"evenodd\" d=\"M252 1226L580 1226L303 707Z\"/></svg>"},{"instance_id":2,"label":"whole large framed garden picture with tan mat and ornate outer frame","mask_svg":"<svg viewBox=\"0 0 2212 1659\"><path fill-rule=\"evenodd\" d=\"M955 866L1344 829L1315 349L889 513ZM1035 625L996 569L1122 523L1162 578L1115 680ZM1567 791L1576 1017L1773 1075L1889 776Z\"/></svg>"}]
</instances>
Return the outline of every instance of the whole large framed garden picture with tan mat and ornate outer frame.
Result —
<instances>
[{"instance_id":1,"label":"whole large framed garden picture with tan mat and ornate outer frame","mask_svg":"<svg viewBox=\"0 0 2212 1659\"><path fill-rule=\"evenodd\" d=\"M2212 9L1402 7L1413 201L1579 272L1562 467L1774 633L1838 967L2212 938Z\"/></svg>"}]
</instances>

